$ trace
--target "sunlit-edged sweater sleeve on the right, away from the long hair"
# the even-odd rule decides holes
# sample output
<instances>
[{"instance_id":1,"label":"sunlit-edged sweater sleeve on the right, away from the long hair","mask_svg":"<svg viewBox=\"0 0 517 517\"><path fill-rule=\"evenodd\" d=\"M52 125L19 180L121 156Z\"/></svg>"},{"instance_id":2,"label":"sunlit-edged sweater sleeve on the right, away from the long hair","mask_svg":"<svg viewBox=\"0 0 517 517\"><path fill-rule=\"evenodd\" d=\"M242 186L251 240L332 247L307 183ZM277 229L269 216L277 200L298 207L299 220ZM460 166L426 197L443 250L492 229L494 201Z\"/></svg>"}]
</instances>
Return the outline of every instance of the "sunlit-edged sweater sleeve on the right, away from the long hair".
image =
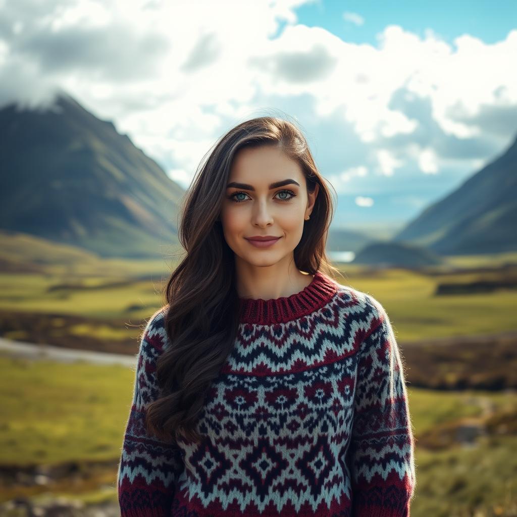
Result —
<instances>
[{"instance_id":1,"label":"sunlit-edged sweater sleeve on the right, away from the long hair","mask_svg":"<svg viewBox=\"0 0 517 517\"><path fill-rule=\"evenodd\" d=\"M414 435L403 364L388 315L373 299L361 344L348 450L353 517L409 517L416 486Z\"/></svg>"}]
</instances>

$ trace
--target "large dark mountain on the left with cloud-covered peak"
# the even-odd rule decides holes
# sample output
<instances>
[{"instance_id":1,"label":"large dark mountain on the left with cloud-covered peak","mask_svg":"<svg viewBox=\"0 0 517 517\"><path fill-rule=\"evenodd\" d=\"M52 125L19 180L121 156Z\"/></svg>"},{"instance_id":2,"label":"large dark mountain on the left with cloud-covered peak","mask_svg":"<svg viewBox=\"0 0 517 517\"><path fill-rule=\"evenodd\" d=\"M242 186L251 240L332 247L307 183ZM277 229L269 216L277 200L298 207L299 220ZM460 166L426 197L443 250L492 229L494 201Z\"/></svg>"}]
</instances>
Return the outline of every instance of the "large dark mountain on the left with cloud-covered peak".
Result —
<instances>
[{"instance_id":1,"label":"large dark mountain on the left with cloud-covered peak","mask_svg":"<svg viewBox=\"0 0 517 517\"><path fill-rule=\"evenodd\" d=\"M47 110L0 110L0 228L103 257L178 246L184 189L113 123L67 94Z\"/></svg>"}]
</instances>

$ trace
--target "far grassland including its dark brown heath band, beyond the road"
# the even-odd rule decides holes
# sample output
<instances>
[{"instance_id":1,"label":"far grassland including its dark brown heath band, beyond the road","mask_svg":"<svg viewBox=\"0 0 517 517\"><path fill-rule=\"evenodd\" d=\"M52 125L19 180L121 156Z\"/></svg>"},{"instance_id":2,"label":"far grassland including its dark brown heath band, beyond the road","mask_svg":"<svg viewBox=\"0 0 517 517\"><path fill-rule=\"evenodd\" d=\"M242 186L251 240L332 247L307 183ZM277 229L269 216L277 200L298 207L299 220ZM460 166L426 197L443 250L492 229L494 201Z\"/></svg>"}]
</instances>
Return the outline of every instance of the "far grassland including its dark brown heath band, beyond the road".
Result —
<instances>
[{"instance_id":1,"label":"far grassland including its dark brown heath band, beyond the road","mask_svg":"<svg viewBox=\"0 0 517 517\"><path fill-rule=\"evenodd\" d=\"M463 260L463 262L462 262ZM504 255L451 258L445 268L375 270L341 265L336 280L371 294L386 308L402 355L407 381L439 389L517 388L517 260ZM46 272L0 273L0 336L32 343L135 354L142 325L165 303L168 267L148 262L119 265L118 276L94 263L90 274L70 264ZM68 275L69 268L73 273ZM172 268L172 266L171 266ZM78 276L77 269L82 271ZM102 272L102 275L99 274ZM75 276L74 276L75 275ZM477 292L476 282L494 282ZM439 294L444 284L464 286L466 293ZM472 292L469 289L472 288ZM496 334L514 332L511 338ZM473 344L465 337L485 336ZM438 340L449 340L437 348ZM423 342L427 341L427 344ZM413 344L418 342L418 348Z\"/></svg>"}]
</instances>

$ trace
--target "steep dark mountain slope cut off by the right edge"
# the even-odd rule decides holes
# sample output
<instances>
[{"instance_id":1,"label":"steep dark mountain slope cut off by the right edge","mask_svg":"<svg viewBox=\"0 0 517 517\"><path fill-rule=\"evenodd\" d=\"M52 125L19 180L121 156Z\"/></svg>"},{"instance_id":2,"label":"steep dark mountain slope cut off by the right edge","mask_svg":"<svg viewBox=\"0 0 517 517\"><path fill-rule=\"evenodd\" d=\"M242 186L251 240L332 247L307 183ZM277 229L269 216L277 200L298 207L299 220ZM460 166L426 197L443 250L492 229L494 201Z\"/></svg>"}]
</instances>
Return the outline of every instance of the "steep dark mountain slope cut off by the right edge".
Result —
<instances>
[{"instance_id":1,"label":"steep dark mountain slope cut off by the right edge","mask_svg":"<svg viewBox=\"0 0 517 517\"><path fill-rule=\"evenodd\" d=\"M426 208L392 240L442 255L517 250L517 138L458 189Z\"/></svg>"}]
</instances>

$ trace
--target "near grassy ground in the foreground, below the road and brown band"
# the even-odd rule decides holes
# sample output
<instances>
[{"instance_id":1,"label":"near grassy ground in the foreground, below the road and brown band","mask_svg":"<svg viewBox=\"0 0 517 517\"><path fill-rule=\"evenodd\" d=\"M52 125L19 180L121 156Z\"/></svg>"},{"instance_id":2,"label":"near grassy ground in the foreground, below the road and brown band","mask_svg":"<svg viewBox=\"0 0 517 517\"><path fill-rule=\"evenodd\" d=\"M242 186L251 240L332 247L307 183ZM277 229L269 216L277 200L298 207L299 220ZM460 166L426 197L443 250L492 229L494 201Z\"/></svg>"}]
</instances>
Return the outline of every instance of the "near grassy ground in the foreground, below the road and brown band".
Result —
<instances>
[{"instance_id":1,"label":"near grassy ground in the foreground, below the road and brown band","mask_svg":"<svg viewBox=\"0 0 517 517\"><path fill-rule=\"evenodd\" d=\"M74 483L56 479L49 486L4 488L3 500L45 492L115 501L116 468L129 415L134 372L120 366L26 361L0 356L1 467L74 465ZM417 439L418 490L412 515L462 513L517 504L517 436L514 428L491 432L462 445L455 435L433 447L425 436L445 425L480 424L498 415L517 418L515 392L409 389ZM513 432L513 434L512 434ZM422 437L422 439L420 439ZM68 475L69 470L64 469ZM6 474L3 474L6 476ZM5 480L4 480L5 481ZM511 513L494 513L494 515Z\"/></svg>"}]
</instances>

